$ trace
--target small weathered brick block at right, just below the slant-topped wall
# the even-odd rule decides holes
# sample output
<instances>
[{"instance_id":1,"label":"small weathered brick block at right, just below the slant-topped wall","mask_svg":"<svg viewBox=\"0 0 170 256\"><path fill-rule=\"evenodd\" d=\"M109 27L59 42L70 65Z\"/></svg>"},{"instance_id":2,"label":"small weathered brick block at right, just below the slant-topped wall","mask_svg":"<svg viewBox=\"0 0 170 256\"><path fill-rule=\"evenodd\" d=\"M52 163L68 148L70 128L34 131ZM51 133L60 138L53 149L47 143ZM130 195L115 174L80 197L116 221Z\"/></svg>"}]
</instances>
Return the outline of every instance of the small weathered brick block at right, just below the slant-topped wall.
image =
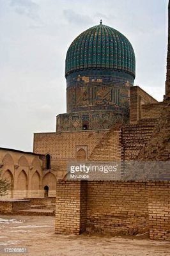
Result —
<instances>
[{"instance_id":1,"label":"small weathered brick block at right, just below the slant-topped wall","mask_svg":"<svg viewBox=\"0 0 170 256\"><path fill-rule=\"evenodd\" d=\"M141 106L141 119L160 118L164 102L145 104Z\"/></svg>"}]
</instances>

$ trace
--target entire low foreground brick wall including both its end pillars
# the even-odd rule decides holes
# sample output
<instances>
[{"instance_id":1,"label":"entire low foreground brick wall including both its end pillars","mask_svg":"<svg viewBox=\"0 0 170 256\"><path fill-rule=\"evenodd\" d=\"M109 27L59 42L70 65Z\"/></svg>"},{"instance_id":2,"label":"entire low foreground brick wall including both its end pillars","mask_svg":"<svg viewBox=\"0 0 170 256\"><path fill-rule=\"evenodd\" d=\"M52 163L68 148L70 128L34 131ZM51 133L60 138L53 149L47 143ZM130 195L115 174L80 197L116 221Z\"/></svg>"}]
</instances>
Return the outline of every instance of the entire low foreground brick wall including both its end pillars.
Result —
<instances>
[{"instance_id":1,"label":"entire low foreground brick wall including both its end pillars","mask_svg":"<svg viewBox=\"0 0 170 256\"><path fill-rule=\"evenodd\" d=\"M56 233L137 234L169 239L170 182L58 181Z\"/></svg>"}]
</instances>

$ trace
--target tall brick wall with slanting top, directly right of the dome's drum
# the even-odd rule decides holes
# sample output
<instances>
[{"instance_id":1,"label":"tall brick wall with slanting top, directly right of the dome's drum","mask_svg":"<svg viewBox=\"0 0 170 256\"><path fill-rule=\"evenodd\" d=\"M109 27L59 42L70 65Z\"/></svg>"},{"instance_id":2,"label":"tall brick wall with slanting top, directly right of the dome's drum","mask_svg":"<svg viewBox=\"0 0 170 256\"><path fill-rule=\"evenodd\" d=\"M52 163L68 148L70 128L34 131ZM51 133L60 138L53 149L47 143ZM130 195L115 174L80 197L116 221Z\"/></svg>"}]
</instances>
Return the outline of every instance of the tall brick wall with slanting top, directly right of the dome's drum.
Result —
<instances>
[{"instance_id":1,"label":"tall brick wall with slanting top, directly right of the dome's drum","mask_svg":"<svg viewBox=\"0 0 170 256\"><path fill-rule=\"evenodd\" d=\"M136 124L141 119L141 106L148 103L158 102L139 86L130 87L130 124Z\"/></svg>"}]
</instances>

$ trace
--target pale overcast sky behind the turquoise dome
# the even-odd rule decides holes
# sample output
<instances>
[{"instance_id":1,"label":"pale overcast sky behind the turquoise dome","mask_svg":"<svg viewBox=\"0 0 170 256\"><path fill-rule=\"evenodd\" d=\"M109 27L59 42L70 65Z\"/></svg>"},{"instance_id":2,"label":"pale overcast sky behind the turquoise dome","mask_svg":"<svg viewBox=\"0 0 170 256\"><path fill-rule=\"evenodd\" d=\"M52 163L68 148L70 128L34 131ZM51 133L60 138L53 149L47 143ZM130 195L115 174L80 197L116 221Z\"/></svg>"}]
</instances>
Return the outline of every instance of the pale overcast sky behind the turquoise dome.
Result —
<instances>
[{"instance_id":1,"label":"pale overcast sky behind the turquoise dome","mask_svg":"<svg viewBox=\"0 0 170 256\"><path fill-rule=\"evenodd\" d=\"M133 45L135 85L162 100L167 0L0 0L0 147L32 151L34 132L55 131L66 51L100 19Z\"/></svg>"}]
</instances>

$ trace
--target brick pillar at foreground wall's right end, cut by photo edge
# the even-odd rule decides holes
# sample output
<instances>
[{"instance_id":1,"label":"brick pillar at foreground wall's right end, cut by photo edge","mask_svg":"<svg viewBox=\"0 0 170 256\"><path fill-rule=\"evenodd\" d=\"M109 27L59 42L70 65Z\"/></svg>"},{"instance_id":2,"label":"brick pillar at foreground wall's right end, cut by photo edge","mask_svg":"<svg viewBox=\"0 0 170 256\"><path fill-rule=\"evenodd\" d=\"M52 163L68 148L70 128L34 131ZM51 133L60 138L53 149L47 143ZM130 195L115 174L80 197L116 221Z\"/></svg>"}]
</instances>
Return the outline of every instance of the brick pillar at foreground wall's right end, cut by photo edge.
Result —
<instances>
[{"instance_id":1,"label":"brick pillar at foreground wall's right end, cut by photo edge","mask_svg":"<svg viewBox=\"0 0 170 256\"><path fill-rule=\"evenodd\" d=\"M148 186L150 239L170 240L170 182L151 182Z\"/></svg>"}]
</instances>

